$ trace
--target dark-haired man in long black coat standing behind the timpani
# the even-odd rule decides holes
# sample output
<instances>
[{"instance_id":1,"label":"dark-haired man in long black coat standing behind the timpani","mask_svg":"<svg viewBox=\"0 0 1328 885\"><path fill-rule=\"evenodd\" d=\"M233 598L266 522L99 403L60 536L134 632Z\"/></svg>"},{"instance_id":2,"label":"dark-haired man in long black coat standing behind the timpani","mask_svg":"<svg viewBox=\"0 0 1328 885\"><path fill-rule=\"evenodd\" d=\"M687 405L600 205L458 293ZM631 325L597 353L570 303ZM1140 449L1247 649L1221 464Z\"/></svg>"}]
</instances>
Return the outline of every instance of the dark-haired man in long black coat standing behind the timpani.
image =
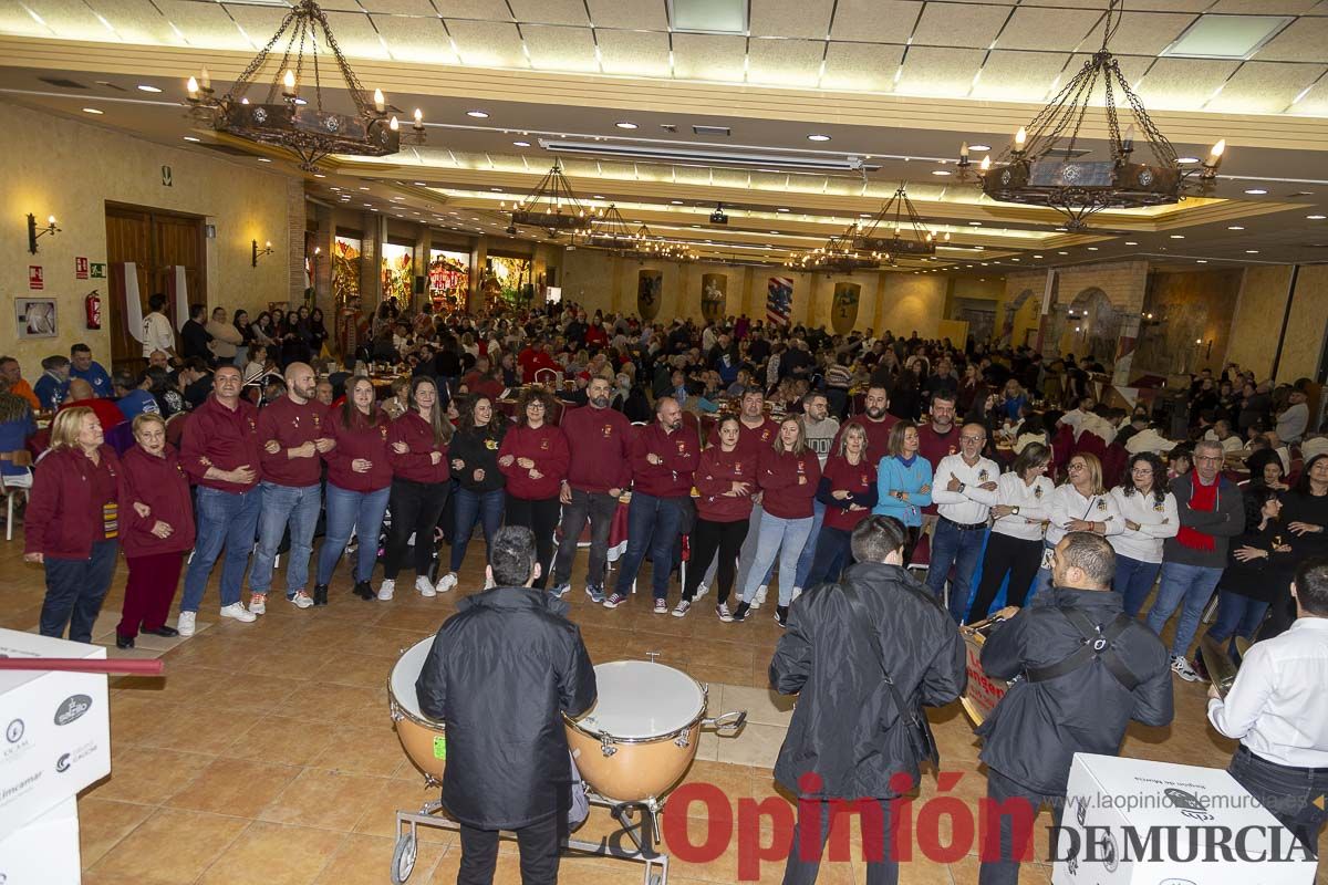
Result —
<instances>
[{"instance_id":1,"label":"dark-haired man in long black coat standing behind the timpani","mask_svg":"<svg viewBox=\"0 0 1328 885\"><path fill-rule=\"evenodd\" d=\"M494 589L457 604L416 681L420 711L448 727L442 803L461 824L458 885L489 885L498 831L515 831L526 885L558 881L571 766L562 714L595 703L595 669L567 604L531 589L535 536L509 525L489 555Z\"/></svg>"}]
</instances>

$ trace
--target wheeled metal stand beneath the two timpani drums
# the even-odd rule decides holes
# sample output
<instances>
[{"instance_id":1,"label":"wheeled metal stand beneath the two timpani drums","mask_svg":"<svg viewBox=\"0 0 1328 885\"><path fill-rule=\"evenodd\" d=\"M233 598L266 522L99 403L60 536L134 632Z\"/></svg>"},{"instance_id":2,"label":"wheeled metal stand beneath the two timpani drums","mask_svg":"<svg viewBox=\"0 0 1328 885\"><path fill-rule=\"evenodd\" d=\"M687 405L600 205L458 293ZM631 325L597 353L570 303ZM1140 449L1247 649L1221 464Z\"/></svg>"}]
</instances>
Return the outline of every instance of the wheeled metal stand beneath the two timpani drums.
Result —
<instances>
[{"instance_id":1,"label":"wheeled metal stand beneath the two timpani drums","mask_svg":"<svg viewBox=\"0 0 1328 885\"><path fill-rule=\"evenodd\" d=\"M641 885L668 885L668 854L656 851L656 847L664 841L660 836L659 821L664 812L664 800L651 797L643 801L619 803L591 791L587 791L586 797L591 805L608 808L608 813L618 821L620 829L599 843L566 839L562 844L563 849L576 854L616 857L644 864ZM420 851L417 828L461 829L454 820L438 813L441 811L442 800L440 799L425 803L420 811L397 812L397 844L392 852L392 885L402 885L414 870ZM620 836L627 836L631 844L624 845Z\"/></svg>"}]
</instances>

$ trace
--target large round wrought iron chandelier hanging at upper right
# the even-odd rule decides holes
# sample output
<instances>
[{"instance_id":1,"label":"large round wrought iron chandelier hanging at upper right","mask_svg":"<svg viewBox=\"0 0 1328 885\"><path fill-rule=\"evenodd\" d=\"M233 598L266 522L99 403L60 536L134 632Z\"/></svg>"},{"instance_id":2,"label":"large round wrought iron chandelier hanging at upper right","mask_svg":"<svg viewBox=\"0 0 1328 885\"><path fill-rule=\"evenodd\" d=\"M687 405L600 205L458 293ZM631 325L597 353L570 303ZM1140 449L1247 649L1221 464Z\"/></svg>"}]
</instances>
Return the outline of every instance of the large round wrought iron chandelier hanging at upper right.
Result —
<instances>
[{"instance_id":1,"label":"large round wrought iron chandelier hanging at upper right","mask_svg":"<svg viewBox=\"0 0 1328 885\"><path fill-rule=\"evenodd\" d=\"M1088 219L1105 208L1166 206L1189 194L1212 191L1226 141L1212 147L1201 169L1182 167L1171 142L1158 131L1108 49L1121 25L1123 5L1123 0L1108 0L1102 48L1028 126L1020 127L995 162L988 155L973 172L967 142L960 147L961 179L976 179L987 196L1001 203L1054 208L1069 219L1069 231L1085 230ZM1109 159L1090 158L1092 151L1080 138L1098 84L1105 93L1101 113L1106 115ZM1123 133L1117 92L1133 117ZM1135 157L1135 131L1142 133L1150 155Z\"/></svg>"}]
</instances>

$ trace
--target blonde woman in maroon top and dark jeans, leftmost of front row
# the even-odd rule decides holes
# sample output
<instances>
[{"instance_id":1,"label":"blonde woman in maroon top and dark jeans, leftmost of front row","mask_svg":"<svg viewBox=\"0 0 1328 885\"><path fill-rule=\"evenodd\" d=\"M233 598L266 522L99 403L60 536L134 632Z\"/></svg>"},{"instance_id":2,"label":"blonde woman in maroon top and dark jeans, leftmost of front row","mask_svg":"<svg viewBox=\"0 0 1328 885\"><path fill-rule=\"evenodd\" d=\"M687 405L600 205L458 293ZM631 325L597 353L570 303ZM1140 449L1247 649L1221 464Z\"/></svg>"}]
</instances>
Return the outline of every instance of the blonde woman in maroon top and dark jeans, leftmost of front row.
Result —
<instances>
[{"instance_id":1,"label":"blonde woman in maroon top and dark jeans, leftmost of front row","mask_svg":"<svg viewBox=\"0 0 1328 885\"><path fill-rule=\"evenodd\" d=\"M120 552L120 459L92 409L56 415L28 500L23 559L46 572L41 636L92 642Z\"/></svg>"}]
</instances>

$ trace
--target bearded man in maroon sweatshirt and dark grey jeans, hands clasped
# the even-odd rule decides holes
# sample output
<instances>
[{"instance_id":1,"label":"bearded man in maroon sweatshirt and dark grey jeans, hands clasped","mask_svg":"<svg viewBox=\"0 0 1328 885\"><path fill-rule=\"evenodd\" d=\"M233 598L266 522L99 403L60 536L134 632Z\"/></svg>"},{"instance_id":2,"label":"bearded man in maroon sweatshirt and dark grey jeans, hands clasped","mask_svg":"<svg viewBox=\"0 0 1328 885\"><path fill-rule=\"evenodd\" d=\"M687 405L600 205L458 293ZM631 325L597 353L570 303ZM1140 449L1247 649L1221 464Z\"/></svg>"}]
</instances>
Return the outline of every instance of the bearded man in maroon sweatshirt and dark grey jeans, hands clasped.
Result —
<instances>
[{"instance_id":1,"label":"bearded man in maroon sweatshirt and dark grey jeans, hands clasped","mask_svg":"<svg viewBox=\"0 0 1328 885\"><path fill-rule=\"evenodd\" d=\"M611 390L607 378L592 378L586 387L586 406L568 409L563 415L562 431L571 459L558 496L563 506L563 540L554 563L554 596L558 597L570 588L576 545L590 519L586 593L592 602L604 601L608 529L618 512L618 498L632 482L632 423L627 415L608 407Z\"/></svg>"}]
</instances>

